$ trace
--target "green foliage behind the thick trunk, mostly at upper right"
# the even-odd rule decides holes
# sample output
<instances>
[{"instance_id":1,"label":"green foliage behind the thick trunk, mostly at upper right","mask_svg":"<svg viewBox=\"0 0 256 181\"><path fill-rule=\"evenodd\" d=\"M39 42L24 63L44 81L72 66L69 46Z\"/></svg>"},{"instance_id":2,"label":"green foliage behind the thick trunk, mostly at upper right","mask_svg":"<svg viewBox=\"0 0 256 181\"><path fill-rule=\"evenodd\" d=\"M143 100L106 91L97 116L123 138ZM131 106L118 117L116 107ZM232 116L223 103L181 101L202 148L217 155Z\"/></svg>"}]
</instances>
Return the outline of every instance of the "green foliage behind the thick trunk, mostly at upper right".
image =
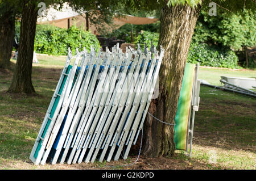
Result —
<instances>
[{"instance_id":1,"label":"green foliage behind the thick trunk, mostly at upper right","mask_svg":"<svg viewBox=\"0 0 256 181\"><path fill-rule=\"evenodd\" d=\"M200 62L203 66L238 68L238 57L234 51L256 45L255 10L245 9L230 15L226 10L218 9L217 16L210 16L208 10L202 10L197 19L187 61ZM150 45L150 41L158 44L159 33L142 30L136 44L146 42Z\"/></svg>"}]
</instances>

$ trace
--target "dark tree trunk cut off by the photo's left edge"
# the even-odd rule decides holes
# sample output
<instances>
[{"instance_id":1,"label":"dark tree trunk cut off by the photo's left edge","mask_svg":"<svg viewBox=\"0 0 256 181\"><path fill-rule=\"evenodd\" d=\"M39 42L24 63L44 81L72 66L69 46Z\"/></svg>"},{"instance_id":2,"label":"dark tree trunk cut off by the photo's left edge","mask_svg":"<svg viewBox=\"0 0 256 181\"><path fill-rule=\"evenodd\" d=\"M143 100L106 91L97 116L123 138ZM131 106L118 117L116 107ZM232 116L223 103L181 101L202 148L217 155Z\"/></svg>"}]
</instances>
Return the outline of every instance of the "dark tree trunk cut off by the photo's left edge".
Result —
<instances>
[{"instance_id":1,"label":"dark tree trunk cut off by the photo's left edge","mask_svg":"<svg viewBox=\"0 0 256 181\"><path fill-rule=\"evenodd\" d=\"M13 49L15 18L10 14L13 12L6 12L0 17L0 68L2 69L9 68Z\"/></svg>"}]
</instances>

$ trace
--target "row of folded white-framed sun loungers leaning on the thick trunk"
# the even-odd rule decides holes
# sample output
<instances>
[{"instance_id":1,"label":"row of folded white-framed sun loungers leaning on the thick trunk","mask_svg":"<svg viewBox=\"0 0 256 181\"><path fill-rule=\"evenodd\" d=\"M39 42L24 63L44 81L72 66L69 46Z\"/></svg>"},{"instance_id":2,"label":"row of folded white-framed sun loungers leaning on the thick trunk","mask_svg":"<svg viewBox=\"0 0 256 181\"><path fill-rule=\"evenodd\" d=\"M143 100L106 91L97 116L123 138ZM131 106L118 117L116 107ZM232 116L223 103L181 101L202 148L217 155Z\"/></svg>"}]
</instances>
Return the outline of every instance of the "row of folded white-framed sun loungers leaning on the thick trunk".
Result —
<instances>
[{"instance_id":1,"label":"row of folded white-framed sun loungers leaning on the thick trunk","mask_svg":"<svg viewBox=\"0 0 256 181\"><path fill-rule=\"evenodd\" d=\"M30 159L81 163L126 159L136 144L155 89L164 49L118 45L77 50L67 61Z\"/></svg>"}]
</instances>

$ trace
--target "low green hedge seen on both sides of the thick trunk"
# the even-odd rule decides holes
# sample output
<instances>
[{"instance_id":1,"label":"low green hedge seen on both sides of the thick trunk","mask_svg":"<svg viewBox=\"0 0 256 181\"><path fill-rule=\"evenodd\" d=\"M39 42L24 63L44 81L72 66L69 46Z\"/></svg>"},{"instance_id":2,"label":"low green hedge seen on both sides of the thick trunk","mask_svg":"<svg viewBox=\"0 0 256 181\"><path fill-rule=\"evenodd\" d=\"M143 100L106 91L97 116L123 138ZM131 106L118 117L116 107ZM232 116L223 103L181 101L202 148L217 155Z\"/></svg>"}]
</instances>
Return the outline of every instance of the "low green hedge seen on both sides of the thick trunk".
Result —
<instances>
[{"instance_id":1,"label":"low green hedge seen on both sides of the thick trunk","mask_svg":"<svg viewBox=\"0 0 256 181\"><path fill-rule=\"evenodd\" d=\"M141 44L144 47L144 42L150 47L151 41L157 46L159 39L159 33L143 31L139 34L136 43ZM189 48L187 62L196 64L200 63L201 66L214 66L221 68L238 68L238 57L228 47L217 45L208 45L207 43L199 43L192 40Z\"/></svg>"}]
</instances>

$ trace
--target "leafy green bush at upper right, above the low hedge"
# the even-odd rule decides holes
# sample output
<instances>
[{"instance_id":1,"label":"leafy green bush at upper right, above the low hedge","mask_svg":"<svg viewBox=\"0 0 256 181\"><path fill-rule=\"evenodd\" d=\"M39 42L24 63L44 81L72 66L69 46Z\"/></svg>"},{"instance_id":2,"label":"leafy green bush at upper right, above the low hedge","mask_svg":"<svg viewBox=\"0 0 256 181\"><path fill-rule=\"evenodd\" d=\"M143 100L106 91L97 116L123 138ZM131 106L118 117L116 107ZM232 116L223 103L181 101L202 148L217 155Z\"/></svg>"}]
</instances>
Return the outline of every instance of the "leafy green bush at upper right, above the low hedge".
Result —
<instances>
[{"instance_id":1,"label":"leafy green bush at upper right, above the low hedge","mask_svg":"<svg viewBox=\"0 0 256 181\"><path fill-rule=\"evenodd\" d=\"M243 10L231 15L224 10L219 11L217 16L209 16L208 11L201 11L193 40L235 50L256 45L256 10Z\"/></svg>"}]
</instances>

